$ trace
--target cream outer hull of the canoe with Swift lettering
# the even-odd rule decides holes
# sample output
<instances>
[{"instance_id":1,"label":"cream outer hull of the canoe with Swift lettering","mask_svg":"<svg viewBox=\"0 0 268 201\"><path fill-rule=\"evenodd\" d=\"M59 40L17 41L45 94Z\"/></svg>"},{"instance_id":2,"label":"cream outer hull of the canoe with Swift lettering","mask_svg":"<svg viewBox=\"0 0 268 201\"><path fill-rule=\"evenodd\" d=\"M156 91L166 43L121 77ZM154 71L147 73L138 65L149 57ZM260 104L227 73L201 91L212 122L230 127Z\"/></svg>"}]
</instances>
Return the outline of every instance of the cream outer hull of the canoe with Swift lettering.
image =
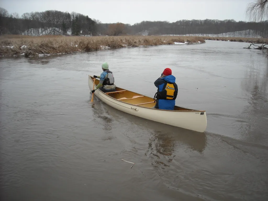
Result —
<instances>
[{"instance_id":1,"label":"cream outer hull of the canoe with Swift lettering","mask_svg":"<svg viewBox=\"0 0 268 201\"><path fill-rule=\"evenodd\" d=\"M93 90L93 80L90 76L88 77L88 87L90 90ZM107 105L137 117L197 132L204 132L207 127L206 111L175 111L152 109L118 101L106 95L101 90L96 90L94 94Z\"/></svg>"}]
</instances>

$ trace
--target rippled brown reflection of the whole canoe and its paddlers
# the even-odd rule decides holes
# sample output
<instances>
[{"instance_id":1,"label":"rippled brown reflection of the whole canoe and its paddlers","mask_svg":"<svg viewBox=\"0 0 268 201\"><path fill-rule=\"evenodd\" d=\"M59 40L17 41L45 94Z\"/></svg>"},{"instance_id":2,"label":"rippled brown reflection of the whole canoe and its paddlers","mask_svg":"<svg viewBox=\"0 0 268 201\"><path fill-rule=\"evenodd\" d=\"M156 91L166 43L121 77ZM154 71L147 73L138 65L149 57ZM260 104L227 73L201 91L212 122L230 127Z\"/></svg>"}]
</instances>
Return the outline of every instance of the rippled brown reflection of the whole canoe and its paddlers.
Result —
<instances>
[{"instance_id":1,"label":"rippled brown reflection of the whole canoe and its paddlers","mask_svg":"<svg viewBox=\"0 0 268 201\"><path fill-rule=\"evenodd\" d=\"M132 116L105 103L92 104L92 109L95 117L94 121L102 124L105 130L110 130L114 124L120 124L124 119L125 125L131 126L131 124L135 124L138 126L139 129L136 132L143 132L144 135L148 133L149 138L146 139L148 148L144 154L154 161L152 166L155 169L170 167L169 163L173 161L174 157L179 157L180 154L184 154L189 150L203 154L206 148L206 133L190 131ZM113 118L110 118L110 115Z\"/></svg>"}]
</instances>

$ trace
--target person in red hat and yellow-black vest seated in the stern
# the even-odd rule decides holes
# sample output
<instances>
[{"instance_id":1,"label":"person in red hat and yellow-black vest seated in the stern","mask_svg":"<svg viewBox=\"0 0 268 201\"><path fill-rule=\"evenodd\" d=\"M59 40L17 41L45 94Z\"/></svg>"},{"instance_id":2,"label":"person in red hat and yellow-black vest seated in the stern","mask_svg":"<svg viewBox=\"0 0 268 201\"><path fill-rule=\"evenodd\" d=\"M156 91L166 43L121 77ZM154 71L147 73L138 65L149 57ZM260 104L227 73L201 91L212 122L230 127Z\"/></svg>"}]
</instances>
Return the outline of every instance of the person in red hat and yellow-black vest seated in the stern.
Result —
<instances>
[{"instance_id":1,"label":"person in red hat and yellow-black vest seated in the stern","mask_svg":"<svg viewBox=\"0 0 268 201\"><path fill-rule=\"evenodd\" d=\"M178 86L175 83L176 77L171 75L171 73L171 69L166 68L162 76L154 82L154 85L158 88L155 94L156 105L154 108L156 109L174 110Z\"/></svg>"}]
</instances>

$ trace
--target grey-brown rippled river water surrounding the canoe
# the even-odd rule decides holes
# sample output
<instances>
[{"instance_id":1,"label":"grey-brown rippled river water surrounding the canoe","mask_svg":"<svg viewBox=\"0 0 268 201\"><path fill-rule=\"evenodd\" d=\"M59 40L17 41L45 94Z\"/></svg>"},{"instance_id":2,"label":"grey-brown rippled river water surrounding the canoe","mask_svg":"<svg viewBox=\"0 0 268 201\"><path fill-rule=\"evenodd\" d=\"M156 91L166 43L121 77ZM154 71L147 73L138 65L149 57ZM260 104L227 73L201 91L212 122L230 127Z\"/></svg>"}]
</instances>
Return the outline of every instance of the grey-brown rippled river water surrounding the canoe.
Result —
<instances>
[{"instance_id":1,"label":"grey-brown rippled river water surrounding the canoe","mask_svg":"<svg viewBox=\"0 0 268 201\"><path fill-rule=\"evenodd\" d=\"M1 200L267 200L268 59L247 45L1 58ZM151 97L171 68L176 105L206 110L206 132L90 103L105 61L118 87Z\"/></svg>"}]
</instances>

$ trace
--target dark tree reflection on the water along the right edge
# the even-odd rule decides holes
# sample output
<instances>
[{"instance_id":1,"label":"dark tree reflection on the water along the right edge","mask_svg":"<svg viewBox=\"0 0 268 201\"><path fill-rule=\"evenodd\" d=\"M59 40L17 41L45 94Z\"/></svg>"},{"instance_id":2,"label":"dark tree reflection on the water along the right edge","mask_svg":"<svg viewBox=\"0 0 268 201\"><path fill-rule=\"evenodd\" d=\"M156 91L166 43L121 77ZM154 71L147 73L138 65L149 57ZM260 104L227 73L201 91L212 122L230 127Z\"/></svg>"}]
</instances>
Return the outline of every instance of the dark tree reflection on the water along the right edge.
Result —
<instances>
[{"instance_id":1,"label":"dark tree reflection on the water along the right edge","mask_svg":"<svg viewBox=\"0 0 268 201\"><path fill-rule=\"evenodd\" d=\"M241 81L243 90L250 94L248 96L248 105L244 108L241 116L245 124L241 124L240 132L251 142L268 143L265 137L268 130L268 63L264 72L259 70L258 64L252 63L250 69L245 72L245 79ZM264 128L266 127L266 129Z\"/></svg>"}]
</instances>

